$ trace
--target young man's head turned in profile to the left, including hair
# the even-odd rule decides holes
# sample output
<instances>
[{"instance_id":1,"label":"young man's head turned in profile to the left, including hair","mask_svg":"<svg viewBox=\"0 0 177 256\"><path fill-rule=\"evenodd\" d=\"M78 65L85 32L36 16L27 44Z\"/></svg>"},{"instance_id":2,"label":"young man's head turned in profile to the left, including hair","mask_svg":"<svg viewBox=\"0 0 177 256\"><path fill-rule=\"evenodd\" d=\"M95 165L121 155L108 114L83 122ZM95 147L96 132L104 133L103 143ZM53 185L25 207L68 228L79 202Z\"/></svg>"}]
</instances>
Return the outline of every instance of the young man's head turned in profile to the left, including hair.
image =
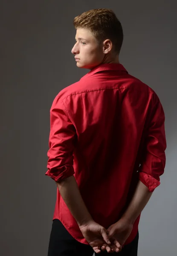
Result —
<instances>
[{"instance_id":1,"label":"young man's head turned in profile to the left, including hair","mask_svg":"<svg viewBox=\"0 0 177 256\"><path fill-rule=\"evenodd\" d=\"M119 63L123 42L120 21L110 9L93 9L74 18L75 55L78 67L93 69L102 63Z\"/></svg>"}]
</instances>

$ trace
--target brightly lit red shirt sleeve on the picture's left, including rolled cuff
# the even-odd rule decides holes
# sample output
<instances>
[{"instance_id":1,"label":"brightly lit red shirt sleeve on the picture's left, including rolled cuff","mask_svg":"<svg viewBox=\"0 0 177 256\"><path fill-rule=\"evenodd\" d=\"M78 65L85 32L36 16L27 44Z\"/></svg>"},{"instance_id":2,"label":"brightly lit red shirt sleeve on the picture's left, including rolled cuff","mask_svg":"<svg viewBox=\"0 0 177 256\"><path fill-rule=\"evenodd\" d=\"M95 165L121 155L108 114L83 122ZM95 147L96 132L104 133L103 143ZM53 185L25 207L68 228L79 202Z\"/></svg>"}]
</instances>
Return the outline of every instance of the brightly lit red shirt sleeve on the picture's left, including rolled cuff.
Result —
<instances>
[{"instance_id":1,"label":"brightly lit red shirt sleeve on the picture's left, including rolled cuff","mask_svg":"<svg viewBox=\"0 0 177 256\"><path fill-rule=\"evenodd\" d=\"M68 117L64 102L59 97L50 109L50 134L46 175L58 182L72 176L73 151L76 131Z\"/></svg>"}]
</instances>

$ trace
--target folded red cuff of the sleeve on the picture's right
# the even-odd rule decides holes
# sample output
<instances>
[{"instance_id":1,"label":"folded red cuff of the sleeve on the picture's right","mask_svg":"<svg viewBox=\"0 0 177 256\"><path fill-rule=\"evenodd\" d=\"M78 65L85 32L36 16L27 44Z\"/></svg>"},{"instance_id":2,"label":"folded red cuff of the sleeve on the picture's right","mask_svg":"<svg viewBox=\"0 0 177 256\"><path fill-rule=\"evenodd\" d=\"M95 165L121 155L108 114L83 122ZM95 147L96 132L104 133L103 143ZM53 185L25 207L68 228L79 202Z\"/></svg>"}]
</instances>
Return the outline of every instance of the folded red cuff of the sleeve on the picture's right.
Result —
<instances>
[{"instance_id":1,"label":"folded red cuff of the sleeve on the picture's right","mask_svg":"<svg viewBox=\"0 0 177 256\"><path fill-rule=\"evenodd\" d=\"M160 185L160 181L156 180L154 177L151 175L148 175L145 172L139 172L139 180L148 187L150 192L153 192L154 189L157 188L157 186Z\"/></svg>"}]
</instances>

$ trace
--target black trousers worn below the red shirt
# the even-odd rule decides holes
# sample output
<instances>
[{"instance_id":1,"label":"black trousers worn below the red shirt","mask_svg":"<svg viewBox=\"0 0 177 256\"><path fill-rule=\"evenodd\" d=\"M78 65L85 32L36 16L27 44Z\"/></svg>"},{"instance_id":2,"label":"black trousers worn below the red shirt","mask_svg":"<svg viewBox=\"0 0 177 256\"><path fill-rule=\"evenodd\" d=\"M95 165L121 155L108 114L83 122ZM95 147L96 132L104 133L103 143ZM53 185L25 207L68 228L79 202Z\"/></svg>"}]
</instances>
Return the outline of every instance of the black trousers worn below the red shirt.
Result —
<instances>
[{"instance_id":1,"label":"black trousers worn below the red shirt","mask_svg":"<svg viewBox=\"0 0 177 256\"><path fill-rule=\"evenodd\" d=\"M136 238L130 243L125 245L119 256L137 256L139 233ZM90 245L81 244L68 233L61 221L58 219L53 220L52 230L49 239L48 256L93 256L93 249ZM96 255L112 255L107 251L101 251ZM114 255L115 253L113 253Z\"/></svg>"}]
</instances>

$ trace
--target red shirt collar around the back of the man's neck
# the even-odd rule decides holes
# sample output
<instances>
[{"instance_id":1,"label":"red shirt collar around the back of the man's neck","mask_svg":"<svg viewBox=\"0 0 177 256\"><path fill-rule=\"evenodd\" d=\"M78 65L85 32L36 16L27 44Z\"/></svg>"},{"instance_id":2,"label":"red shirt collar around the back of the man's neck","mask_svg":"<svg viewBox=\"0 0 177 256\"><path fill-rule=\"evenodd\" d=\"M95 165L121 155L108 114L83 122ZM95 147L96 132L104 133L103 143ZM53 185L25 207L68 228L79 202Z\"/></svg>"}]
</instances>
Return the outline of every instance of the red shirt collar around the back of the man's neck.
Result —
<instances>
[{"instance_id":1,"label":"red shirt collar around the back of the man's neck","mask_svg":"<svg viewBox=\"0 0 177 256\"><path fill-rule=\"evenodd\" d=\"M123 71L128 73L128 71L125 69L125 67L122 64L118 63L106 63L106 64L100 64L97 67L94 67L92 70L90 70L83 78L87 78L89 76L92 76L95 73L98 73L100 71L105 71L105 70L117 70L117 71Z\"/></svg>"}]
</instances>

